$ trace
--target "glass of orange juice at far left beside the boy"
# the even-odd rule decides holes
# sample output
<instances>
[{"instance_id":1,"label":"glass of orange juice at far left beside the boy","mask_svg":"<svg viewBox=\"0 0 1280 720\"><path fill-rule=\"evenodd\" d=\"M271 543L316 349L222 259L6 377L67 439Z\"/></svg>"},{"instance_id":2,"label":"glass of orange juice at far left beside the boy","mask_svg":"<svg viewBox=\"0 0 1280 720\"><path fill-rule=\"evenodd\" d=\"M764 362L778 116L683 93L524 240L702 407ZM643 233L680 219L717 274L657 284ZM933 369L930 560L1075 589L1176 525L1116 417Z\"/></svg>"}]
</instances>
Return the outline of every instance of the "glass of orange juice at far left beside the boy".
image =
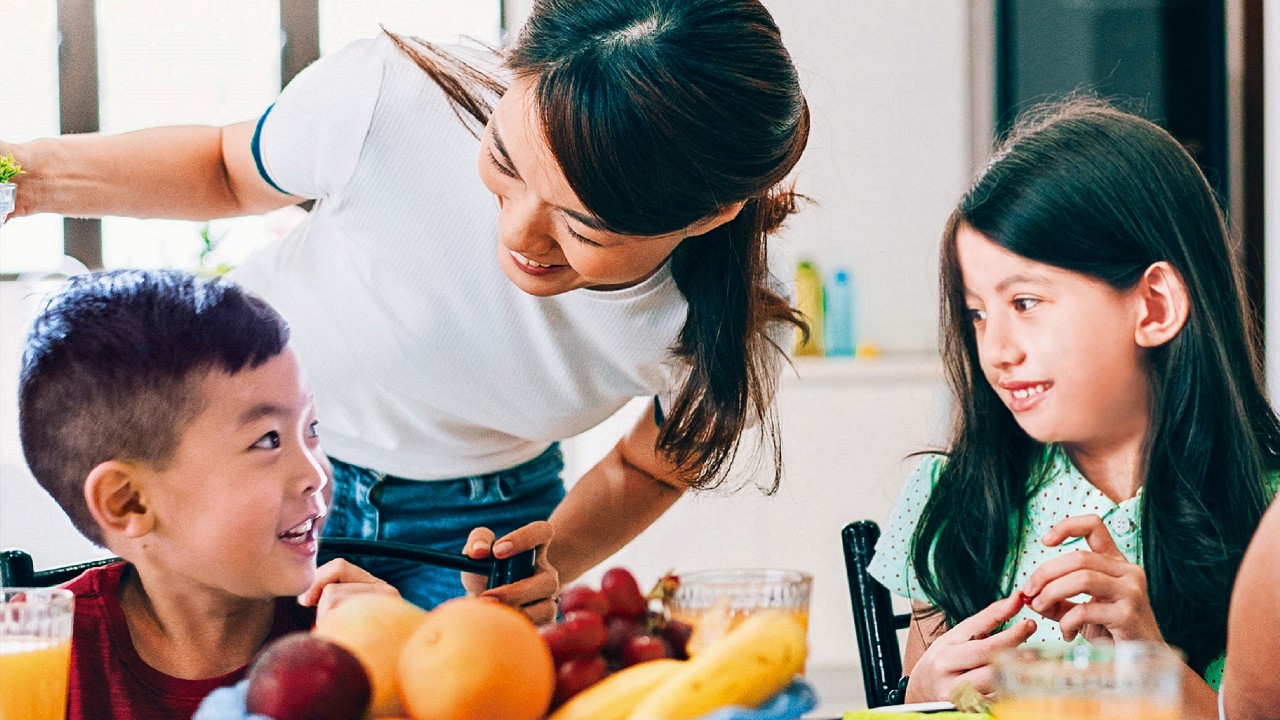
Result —
<instances>
[{"instance_id":1,"label":"glass of orange juice at far left beside the boy","mask_svg":"<svg viewBox=\"0 0 1280 720\"><path fill-rule=\"evenodd\" d=\"M0 720L65 720L76 598L0 588Z\"/></svg>"}]
</instances>

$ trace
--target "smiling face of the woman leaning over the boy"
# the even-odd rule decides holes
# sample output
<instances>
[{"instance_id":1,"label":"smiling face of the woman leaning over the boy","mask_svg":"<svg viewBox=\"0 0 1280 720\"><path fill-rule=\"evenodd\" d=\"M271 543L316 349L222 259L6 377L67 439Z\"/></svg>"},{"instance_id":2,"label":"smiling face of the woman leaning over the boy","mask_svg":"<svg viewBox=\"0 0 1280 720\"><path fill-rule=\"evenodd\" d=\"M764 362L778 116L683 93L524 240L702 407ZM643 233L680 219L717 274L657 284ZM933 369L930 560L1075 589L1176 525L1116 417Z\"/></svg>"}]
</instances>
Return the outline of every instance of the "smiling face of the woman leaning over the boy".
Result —
<instances>
[{"instance_id":1,"label":"smiling face of the woman leaning over the boy","mask_svg":"<svg viewBox=\"0 0 1280 720\"><path fill-rule=\"evenodd\" d=\"M657 272L680 241L716 228L741 209L736 205L658 236L603 229L543 140L534 96L532 78L512 83L485 127L479 159L480 179L498 197L498 264L525 292L550 296L581 287L632 286Z\"/></svg>"}]
</instances>

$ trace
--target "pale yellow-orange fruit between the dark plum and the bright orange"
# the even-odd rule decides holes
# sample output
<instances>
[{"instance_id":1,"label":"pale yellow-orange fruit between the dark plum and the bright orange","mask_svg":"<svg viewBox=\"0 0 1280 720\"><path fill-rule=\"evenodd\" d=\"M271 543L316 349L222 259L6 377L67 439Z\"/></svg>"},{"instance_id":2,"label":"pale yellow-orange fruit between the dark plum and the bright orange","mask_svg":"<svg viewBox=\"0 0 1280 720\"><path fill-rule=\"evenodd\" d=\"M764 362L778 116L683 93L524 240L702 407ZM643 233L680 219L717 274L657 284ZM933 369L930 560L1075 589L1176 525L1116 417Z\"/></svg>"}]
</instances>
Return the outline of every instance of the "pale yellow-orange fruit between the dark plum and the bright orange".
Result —
<instances>
[{"instance_id":1,"label":"pale yellow-orange fruit between the dark plum and the bright orange","mask_svg":"<svg viewBox=\"0 0 1280 720\"><path fill-rule=\"evenodd\" d=\"M314 634L349 650L369 673L374 694L366 717L404 715L397 665L404 641L426 618L425 610L407 600L365 593L343 600L316 623Z\"/></svg>"}]
</instances>

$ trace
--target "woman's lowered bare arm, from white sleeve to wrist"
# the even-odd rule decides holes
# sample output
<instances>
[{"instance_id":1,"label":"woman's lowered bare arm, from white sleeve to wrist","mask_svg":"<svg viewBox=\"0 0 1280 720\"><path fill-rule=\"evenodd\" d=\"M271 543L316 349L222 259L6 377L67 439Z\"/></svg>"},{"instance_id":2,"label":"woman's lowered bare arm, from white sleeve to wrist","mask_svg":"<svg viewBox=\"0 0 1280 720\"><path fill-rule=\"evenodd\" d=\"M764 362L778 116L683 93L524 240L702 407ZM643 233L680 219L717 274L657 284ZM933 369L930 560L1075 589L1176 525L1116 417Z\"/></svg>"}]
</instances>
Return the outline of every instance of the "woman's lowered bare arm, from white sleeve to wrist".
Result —
<instances>
[{"instance_id":1,"label":"woman's lowered bare arm, from white sleeve to wrist","mask_svg":"<svg viewBox=\"0 0 1280 720\"><path fill-rule=\"evenodd\" d=\"M552 514L550 564L568 584L653 524L685 493L658 452L653 404L603 460L586 471Z\"/></svg>"}]
</instances>

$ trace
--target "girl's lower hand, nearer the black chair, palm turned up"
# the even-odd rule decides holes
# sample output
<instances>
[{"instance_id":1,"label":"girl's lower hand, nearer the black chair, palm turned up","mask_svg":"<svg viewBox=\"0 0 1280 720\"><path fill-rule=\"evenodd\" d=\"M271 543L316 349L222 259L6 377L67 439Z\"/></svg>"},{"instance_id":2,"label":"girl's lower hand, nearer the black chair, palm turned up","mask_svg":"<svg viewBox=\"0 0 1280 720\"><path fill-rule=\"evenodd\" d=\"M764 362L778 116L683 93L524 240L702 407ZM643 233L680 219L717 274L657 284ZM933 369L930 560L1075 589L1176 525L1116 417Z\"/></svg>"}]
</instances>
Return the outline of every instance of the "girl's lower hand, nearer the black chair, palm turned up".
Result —
<instances>
[{"instance_id":1,"label":"girl's lower hand, nearer the black chair, palm turned up","mask_svg":"<svg viewBox=\"0 0 1280 720\"><path fill-rule=\"evenodd\" d=\"M1021 596L997 600L933 641L911 669L906 702L946 700L961 682L989 696L995 689L992 660L1001 651L1023 644L1036 633L1036 623L1023 620L992 634L996 628L1018 615L1021 607Z\"/></svg>"}]
</instances>

